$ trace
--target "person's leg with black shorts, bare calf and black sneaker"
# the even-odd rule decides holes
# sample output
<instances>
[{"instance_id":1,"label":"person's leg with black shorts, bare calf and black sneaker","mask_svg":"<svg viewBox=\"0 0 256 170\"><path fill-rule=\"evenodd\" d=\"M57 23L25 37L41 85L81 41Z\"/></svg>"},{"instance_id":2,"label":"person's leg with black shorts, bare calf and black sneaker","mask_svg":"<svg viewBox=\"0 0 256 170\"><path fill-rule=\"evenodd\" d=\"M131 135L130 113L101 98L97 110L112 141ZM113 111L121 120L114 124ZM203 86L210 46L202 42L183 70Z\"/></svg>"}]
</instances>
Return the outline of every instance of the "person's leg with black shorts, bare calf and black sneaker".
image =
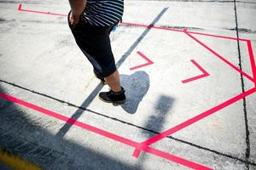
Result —
<instances>
[{"instance_id":1,"label":"person's leg with black shorts, bare calf and black sneaker","mask_svg":"<svg viewBox=\"0 0 256 170\"><path fill-rule=\"evenodd\" d=\"M104 77L111 88L108 92L100 93L99 98L108 103L125 103L125 90L120 86L110 45L109 27L89 26L80 21L77 26L70 28L79 48L93 65L96 77Z\"/></svg>"}]
</instances>

